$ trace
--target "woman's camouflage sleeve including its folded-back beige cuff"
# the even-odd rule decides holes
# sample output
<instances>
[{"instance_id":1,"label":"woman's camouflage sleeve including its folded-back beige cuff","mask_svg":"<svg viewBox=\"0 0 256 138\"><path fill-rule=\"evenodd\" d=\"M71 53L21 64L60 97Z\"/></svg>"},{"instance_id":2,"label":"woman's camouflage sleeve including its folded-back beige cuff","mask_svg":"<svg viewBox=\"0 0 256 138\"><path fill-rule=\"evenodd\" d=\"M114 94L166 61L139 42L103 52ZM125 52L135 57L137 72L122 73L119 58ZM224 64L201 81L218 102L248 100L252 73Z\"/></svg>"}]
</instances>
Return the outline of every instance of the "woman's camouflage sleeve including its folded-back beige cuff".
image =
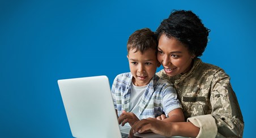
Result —
<instances>
[{"instance_id":1,"label":"woman's camouflage sleeve including its folded-back beige cuff","mask_svg":"<svg viewBox=\"0 0 256 138\"><path fill-rule=\"evenodd\" d=\"M229 76L219 69L212 75L211 85L204 86L209 87L211 114L187 119L200 128L197 137L242 137L244 121L229 80Z\"/></svg>"}]
</instances>

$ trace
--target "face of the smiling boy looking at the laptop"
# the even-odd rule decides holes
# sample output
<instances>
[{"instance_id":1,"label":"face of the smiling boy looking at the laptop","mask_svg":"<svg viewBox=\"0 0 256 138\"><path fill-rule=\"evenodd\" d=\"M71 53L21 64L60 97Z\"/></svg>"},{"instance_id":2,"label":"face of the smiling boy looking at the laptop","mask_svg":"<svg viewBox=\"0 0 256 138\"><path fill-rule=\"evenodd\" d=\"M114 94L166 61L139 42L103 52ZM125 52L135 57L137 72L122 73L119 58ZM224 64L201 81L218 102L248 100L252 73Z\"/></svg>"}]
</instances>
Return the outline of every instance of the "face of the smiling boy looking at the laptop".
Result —
<instances>
[{"instance_id":1,"label":"face of the smiling boy looking at the laptop","mask_svg":"<svg viewBox=\"0 0 256 138\"><path fill-rule=\"evenodd\" d=\"M131 74L133 74L133 84L144 86L150 83L150 80L156 73L156 68L160 66L157 61L155 50L148 49L142 54L136 49L131 49L127 58Z\"/></svg>"}]
</instances>

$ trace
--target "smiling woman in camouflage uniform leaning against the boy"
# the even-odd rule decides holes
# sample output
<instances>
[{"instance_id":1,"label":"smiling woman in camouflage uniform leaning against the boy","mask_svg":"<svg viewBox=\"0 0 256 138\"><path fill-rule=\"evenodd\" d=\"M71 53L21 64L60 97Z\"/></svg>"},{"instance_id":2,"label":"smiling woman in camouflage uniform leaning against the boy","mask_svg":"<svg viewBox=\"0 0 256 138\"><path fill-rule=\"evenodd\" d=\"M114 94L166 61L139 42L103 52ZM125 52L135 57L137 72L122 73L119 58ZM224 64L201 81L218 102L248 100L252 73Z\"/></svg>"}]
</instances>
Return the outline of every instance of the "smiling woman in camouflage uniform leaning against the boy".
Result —
<instances>
[{"instance_id":1,"label":"smiling woman in camouflage uniform leaning against the boy","mask_svg":"<svg viewBox=\"0 0 256 138\"><path fill-rule=\"evenodd\" d=\"M209 32L192 11L173 11L161 22L157 59L164 69L157 75L174 84L187 122L164 122L165 115L143 119L130 136L150 130L164 136L242 137L244 120L229 76L198 58Z\"/></svg>"}]
</instances>

